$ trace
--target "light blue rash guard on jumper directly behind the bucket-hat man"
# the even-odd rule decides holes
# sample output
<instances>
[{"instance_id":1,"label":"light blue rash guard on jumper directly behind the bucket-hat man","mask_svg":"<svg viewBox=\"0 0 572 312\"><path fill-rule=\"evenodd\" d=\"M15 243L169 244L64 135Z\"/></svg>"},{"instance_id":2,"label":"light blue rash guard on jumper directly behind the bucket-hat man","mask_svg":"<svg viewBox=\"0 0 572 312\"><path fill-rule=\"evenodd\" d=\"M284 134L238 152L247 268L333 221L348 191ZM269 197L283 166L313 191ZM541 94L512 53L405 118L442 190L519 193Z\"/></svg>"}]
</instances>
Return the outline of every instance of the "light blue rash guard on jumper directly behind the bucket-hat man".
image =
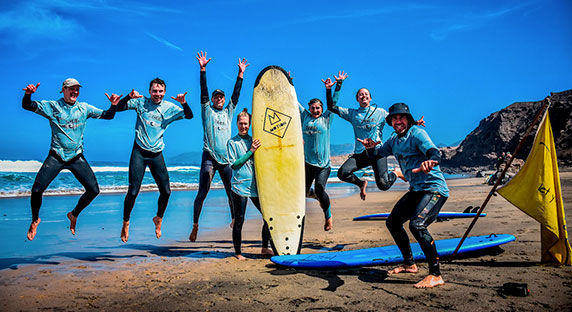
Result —
<instances>
[{"instance_id":1,"label":"light blue rash guard on jumper directly behind the bucket-hat man","mask_svg":"<svg viewBox=\"0 0 572 312\"><path fill-rule=\"evenodd\" d=\"M359 154L365 150L363 144L357 139L370 138L374 141L381 141L385 117L388 113L383 108L368 107L345 108L337 106L340 117L349 121L354 128L355 148L354 153Z\"/></svg>"}]
</instances>

